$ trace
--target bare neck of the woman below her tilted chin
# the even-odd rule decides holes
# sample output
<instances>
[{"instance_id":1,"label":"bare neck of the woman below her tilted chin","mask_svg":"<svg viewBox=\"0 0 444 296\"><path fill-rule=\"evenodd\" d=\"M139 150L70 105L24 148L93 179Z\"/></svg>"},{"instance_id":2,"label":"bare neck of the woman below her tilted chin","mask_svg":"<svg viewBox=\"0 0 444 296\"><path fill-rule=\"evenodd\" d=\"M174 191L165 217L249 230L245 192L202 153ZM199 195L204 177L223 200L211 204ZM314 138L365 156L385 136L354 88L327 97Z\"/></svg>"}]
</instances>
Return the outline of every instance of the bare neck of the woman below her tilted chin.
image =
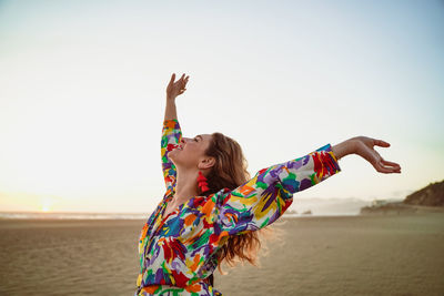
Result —
<instances>
[{"instance_id":1,"label":"bare neck of the woman below her tilted chin","mask_svg":"<svg viewBox=\"0 0 444 296\"><path fill-rule=\"evenodd\" d=\"M178 204L189 201L191 197L199 195L198 192L198 172L196 171L179 171L175 180L175 194L173 201Z\"/></svg>"}]
</instances>

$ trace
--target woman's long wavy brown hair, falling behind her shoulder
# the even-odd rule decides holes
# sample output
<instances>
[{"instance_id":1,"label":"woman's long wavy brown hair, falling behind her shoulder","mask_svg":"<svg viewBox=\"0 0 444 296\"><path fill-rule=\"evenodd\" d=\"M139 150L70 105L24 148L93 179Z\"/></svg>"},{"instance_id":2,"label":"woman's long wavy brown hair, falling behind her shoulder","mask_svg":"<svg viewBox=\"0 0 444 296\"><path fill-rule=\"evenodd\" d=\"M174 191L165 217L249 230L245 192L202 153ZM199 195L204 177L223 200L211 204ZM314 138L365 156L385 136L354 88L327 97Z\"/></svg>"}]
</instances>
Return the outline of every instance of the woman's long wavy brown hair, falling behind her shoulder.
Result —
<instances>
[{"instance_id":1,"label":"woman's long wavy brown hair, falling behind her shoulder","mask_svg":"<svg viewBox=\"0 0 444 296\"><path fill-rule=\"evenodd\" d=\"M246 171L248 161L245 160L242 149L236 141L225 136L222 133L213 133L212 140L205 154L215 159L215 164L208 173L209 191L205 195L215 193L224 187L234 190L251 178ZM262 238L280 238L281 229L271 225L258 231L250 231L239 235L231 235L225 244L218 251L218 268L222 275L221 264L225 259L231 267L238 262L249 262L254 266L259 264L259 251L261 249ZM261 242L262 241L262 242ZM266 245L264 245L268 251ZM213 282L213 277L210 278Z\"/></svg>"}]
</instances>

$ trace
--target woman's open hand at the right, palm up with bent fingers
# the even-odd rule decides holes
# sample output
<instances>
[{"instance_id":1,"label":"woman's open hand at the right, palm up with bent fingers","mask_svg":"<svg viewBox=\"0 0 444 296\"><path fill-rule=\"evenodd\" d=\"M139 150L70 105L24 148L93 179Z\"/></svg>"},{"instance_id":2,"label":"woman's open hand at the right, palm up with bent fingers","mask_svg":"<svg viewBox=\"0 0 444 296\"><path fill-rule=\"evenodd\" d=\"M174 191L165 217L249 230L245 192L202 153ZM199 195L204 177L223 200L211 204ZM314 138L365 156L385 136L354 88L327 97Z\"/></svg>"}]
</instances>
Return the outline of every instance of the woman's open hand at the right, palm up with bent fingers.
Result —
<instances>
[{"instance_id":1,"label":"woman's open hand at the right, palm up with bent fingers","mask_svg":"<svg viewBox=\"0 0 444 296\"><path fill-rule=\"evenodd\" d=\"M351 139L355 142L354 153L367 160L380 173L401 173L401 165L394 162L385 161L373 146L390 147L390 144L382 140L367 136L355 136Z\"/></svg>"}]
</instances>

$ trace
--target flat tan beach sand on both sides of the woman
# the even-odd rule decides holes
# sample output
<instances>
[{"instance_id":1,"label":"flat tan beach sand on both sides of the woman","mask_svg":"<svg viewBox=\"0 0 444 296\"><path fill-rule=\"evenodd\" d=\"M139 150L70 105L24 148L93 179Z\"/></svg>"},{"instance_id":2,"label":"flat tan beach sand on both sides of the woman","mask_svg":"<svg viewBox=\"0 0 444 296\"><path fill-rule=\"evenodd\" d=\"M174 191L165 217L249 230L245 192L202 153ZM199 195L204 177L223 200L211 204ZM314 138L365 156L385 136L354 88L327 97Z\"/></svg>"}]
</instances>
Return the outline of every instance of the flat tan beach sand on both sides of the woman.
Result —
<instances>
[{"instance_id":1,"label":"flat tan beach sand on both sides of the woman","mask_svg":"<svg viewBox=\"0 0 444 296\"><path fill-rule=\"evenodd\" d=\"M144 221L0 221L0 295L133 295ZM444 295L444 214L281 218L231 295Z\"/></svg>"}]
</instances>

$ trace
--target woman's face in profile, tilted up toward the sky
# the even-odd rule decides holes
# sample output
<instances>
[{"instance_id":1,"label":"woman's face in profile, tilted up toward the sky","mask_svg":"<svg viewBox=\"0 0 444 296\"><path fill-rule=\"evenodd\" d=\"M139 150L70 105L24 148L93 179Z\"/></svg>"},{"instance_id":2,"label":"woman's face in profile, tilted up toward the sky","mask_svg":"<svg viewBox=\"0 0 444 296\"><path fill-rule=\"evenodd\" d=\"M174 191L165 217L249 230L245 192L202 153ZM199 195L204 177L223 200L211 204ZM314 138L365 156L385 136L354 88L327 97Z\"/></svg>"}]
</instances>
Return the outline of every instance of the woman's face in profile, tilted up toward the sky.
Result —
<instances>
[{"instance_id":1,"label":"woman's face in profile, tilted up toward the sky","mask_svg":"<svg viewBox=\"0 0 444 296\"><path fill-rule=\"evenodd\" d=\"M199 134L192 139L182 136L179 145L170 151L170 160L175 166L198 167L198 164L206 157L204 152L210 146L211 137L211 134Z\"/></svg>"}]
</instances>

